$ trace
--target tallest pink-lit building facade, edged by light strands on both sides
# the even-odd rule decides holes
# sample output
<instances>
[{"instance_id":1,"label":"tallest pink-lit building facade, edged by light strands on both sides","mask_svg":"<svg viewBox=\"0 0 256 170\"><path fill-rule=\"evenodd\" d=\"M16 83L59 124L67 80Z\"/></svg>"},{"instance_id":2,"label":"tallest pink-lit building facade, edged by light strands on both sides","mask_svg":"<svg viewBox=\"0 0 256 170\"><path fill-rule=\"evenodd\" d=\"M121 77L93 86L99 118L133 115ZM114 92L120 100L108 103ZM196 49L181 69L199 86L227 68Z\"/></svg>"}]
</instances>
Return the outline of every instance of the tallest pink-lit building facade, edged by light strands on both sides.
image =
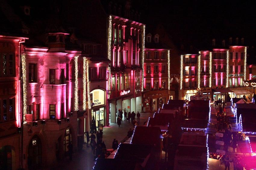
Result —
<instances>
[{"instance_id":1,"label":"tallest pink-lit building facade, edged by light strands on both sides","mask_svg":"<svg viewBox=\"0 0 256 170\"><path fill-rule=\"evenodd\" d=\"M108 17L108 100L110 122L118 110L142 111L145 25L110 15Z\"/></svg>"}]
</instances>

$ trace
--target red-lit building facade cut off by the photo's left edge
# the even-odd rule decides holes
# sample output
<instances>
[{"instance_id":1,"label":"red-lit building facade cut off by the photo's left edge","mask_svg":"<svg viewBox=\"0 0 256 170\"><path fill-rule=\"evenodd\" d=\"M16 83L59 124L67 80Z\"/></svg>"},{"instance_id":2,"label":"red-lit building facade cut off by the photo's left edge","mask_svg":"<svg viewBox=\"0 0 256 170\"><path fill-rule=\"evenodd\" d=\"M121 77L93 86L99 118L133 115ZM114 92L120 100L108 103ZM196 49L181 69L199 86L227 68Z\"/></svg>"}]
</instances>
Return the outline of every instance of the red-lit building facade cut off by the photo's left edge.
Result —
<instances>
[{"instance_id":1,"label":"red-lit building facade cut off by the photo's left edge","mask_svg":"<svg viewBox=\"0 0 256 170\"><path fill-rule=\"evenodd\" d=\"M22 140L20 45L28 38L0 35L0 160L2 169L20 168Z\"/></svg>"}]
</instances>

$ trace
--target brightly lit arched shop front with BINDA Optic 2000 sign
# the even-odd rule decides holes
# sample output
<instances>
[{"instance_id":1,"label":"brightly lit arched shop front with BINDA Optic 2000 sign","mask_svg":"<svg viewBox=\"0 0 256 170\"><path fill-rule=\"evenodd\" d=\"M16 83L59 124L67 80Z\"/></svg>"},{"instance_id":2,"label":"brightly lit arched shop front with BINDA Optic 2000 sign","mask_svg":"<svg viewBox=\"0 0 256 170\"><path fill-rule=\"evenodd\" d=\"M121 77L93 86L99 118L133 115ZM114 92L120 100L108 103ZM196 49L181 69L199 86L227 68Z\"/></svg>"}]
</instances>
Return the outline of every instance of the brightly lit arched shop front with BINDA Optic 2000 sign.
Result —
<instances>
[{"instance_id":1,"label":"brightly lit arched shop front with BINDA Optic 2000 sign","mask_svg":"<svg viewBox=\"0 0 256 170\"><path fill-rule=\"evenodd\" d=\"M98 124L103 124L103 126L105 126L106 92L101 89L92 90L90 93L90 99L92 103L92 116L95 118L96 127L98 127Z\"/></svg>"}]
</instances>

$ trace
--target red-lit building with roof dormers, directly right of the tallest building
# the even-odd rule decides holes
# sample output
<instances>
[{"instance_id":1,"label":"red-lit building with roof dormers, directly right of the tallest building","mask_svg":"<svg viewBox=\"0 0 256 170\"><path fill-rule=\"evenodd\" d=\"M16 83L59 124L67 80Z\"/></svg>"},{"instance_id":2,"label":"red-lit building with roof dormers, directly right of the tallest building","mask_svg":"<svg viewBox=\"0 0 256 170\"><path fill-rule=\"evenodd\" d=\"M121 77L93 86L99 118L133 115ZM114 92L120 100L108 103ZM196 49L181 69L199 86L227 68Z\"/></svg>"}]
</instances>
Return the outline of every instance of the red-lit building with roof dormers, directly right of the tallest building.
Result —
<instances>
[{"instance_id":1,"label":"red-lit building with roof dormers, directly right of the tallest building","mask_svg":"<svg viewBox=\"0 0 256 170\"><path fill-rule=\"evenodd\" d=\"M160 39L161 40L161 39ZM145 36L143 111L156 111L170 98L170 47L159 35ZM173 95L172 95L173 99Z\"/></svg>"}]
</instances>

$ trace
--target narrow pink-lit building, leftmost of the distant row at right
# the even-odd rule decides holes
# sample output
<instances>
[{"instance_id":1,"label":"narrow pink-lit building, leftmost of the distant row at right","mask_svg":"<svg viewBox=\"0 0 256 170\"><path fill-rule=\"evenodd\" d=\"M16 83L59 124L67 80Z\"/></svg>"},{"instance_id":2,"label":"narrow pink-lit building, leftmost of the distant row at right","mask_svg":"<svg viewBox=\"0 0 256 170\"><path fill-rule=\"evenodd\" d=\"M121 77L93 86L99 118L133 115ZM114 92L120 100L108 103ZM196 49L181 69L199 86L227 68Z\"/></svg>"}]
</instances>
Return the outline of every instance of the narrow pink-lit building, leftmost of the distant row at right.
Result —
<instances>
[{"instance_id":1,"label":"narrow pink-lit building, leftmost of the distant row at right","mask_svg":"<svg viewBox=\"0 0 256 170\"><path fill-rule=\"evenodd\" d=\"M180 55L180 96L182 100L190 100L197 94L199 54Z\"/></svg>"}]
</instances>

